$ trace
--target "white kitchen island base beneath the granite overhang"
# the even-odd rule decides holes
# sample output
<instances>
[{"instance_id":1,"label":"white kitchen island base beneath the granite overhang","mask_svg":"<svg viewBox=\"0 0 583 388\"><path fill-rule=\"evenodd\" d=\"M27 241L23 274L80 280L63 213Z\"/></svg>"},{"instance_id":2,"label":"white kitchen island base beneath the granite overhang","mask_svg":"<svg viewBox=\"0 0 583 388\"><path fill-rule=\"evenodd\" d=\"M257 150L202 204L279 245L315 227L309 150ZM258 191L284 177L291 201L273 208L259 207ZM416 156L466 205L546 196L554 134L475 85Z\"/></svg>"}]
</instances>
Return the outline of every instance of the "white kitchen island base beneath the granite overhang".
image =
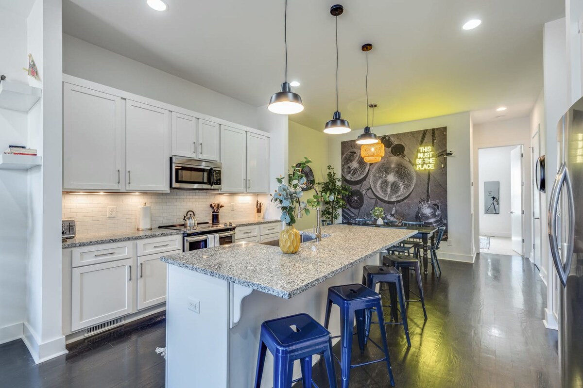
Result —
<instances>
[{"instance_id":1,"label":"white kitchen island base beneath the granite overhang","mask_svg":"<svg viewBox=\"0 0 583 388\"><path fill-rule=\"evenodd\" d=\"M291 299L168 265L166 387L252 387L261 323L304 312L323 325L328 287L361 283L363 266L379 260L378 255L368 258ZM240 297L250 291L239 309ZM188 308L192 300L200 302L199 314ZM330 331L340 334L338 307L332 308ZM267 354L262 387L273 386L273 358ZM294 379L301 375L296 364Z\"/></svg>"}]
</instances>

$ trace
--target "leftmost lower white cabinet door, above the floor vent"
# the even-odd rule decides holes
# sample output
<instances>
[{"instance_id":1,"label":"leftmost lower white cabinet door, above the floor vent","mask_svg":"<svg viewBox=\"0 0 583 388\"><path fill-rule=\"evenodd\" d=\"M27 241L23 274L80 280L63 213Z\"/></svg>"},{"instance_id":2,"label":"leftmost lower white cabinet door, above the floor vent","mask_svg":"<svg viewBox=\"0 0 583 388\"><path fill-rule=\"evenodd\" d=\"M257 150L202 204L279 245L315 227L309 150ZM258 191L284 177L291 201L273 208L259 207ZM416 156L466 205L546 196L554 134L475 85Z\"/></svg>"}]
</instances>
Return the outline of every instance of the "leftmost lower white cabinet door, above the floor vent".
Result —
<instances>
[{"instance_id":1,"label":"leftmost lower white cabinet door, above the floor vent","mask_svg":"<svg viewBox=\"0 0 583 388\"><path fill-rule=\"evenodd\" d=\"M72 269L73 332L134 312L132 262L124 259Z\"/></svg>"}]
</instances>

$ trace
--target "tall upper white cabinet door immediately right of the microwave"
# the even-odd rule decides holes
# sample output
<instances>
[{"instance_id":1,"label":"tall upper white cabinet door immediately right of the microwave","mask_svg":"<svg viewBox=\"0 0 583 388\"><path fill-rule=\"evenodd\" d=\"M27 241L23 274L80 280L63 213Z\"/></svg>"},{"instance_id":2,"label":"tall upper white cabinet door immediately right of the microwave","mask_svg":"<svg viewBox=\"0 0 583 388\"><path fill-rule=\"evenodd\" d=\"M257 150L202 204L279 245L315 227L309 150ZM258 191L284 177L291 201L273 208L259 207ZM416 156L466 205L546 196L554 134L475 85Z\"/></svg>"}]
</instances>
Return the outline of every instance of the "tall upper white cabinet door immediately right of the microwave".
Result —
<instances>
[{"instance_id":1,"label":"tall upper white cabinet door immediately right of the microwave","mask_svg":"<svg viewBox=\"0 0 583 388\"><path fill-rule=\"evenodd\" d=\"M220 134L223 169L221 185L224 193L245 193L247 187L247 138L241 129L222 125Z\"/></svg>"}]
</instances>

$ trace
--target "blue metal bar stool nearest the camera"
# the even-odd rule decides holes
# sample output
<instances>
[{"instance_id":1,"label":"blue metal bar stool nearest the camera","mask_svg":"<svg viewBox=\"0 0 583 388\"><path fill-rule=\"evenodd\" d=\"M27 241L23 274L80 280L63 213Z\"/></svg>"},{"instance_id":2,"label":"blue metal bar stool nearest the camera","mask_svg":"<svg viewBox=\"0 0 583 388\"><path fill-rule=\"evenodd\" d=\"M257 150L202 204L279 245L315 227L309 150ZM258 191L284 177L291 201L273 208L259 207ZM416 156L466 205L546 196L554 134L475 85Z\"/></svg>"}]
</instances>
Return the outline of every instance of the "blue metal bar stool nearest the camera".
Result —
<instances>
[{"instance_id":1,"label":"blue metal bar stool nearest the camera","mask_svg":"<svg viewBox=\"0 0 583 388\"><path fill-rule=\"evenodd\" d=\"M326 361L330 387L336 388L336 374L332 362L332 336L310 315L285 316L261 324L255 388L261 387L265 354L268 349L273 354L273 388L291 388L291 385L299 380L302 380L303 388L311 388L312 355L318 353L323 354ZM293 363L297 359L301 360L302 378L292 381Z\"/></svg>"}]
</instances>

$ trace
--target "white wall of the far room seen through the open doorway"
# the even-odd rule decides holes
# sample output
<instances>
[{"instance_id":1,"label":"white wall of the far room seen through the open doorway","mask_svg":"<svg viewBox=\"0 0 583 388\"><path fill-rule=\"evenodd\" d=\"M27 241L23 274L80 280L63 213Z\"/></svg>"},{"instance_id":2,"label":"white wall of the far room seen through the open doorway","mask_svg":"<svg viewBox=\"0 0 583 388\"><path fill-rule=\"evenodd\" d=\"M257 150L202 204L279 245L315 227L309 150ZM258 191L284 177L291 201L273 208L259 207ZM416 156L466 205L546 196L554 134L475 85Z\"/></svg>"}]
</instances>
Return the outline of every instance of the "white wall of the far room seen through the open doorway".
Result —
<instances>
[{"instance_id":1,"label":"white wall of the far room seen through the open doorway","mask_svg":"<svg viewBox=\"0 0 583 388\"><path fill-rule=\"evenodd\" d=\"M478 152L480 236L511 237L510 220L510 151L516 147L481 148ZM498 214L486 214L492 200L484 197L484 183L500 183Z\"/></svg>"}]
</instances>

